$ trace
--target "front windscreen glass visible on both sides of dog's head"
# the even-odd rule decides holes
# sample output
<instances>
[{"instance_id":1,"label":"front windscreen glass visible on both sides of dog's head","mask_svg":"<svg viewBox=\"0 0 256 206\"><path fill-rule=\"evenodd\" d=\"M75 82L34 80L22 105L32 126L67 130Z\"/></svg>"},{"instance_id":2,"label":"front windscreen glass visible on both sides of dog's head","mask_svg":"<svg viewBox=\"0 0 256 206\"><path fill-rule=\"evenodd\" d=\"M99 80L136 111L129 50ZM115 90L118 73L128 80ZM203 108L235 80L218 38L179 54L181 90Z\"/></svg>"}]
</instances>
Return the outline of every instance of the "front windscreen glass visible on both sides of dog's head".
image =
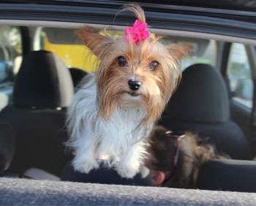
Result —
<instances>
[{"instance_id":1,"label":"front windscreen glass visible on both sides of dog's head","mask_svg":"<svg viewBox=\"0 0 256 206\"><path fill-rule=\"evenodd\" d=\"M94 71L96 56L90 55L90 50L85 47L71 28L38 28L35 39L35 49L45 49L59 55L68 67L82 68L86 71ZM120 38L123 31L107 31L110 36ZM103 34L105 31L99 31ZM154 34L152 34L154 35ZM207 63L216 66L216 41L208 39L194 39L181 36L161 36L164 44L186 44L193 49L189 51L187 58L181 62L181 69L194 63Z\"/></svg>"}]
</instances>

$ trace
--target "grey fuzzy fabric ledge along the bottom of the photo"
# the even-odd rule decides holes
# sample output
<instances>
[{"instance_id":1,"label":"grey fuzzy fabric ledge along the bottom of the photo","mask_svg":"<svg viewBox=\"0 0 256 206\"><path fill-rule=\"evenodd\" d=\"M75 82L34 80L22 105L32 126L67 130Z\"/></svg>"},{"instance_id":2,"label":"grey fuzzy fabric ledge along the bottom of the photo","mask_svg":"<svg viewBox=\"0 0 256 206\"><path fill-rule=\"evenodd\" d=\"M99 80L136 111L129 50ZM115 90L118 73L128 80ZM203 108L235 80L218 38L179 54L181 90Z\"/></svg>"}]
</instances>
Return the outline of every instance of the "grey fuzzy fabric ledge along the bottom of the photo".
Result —
<instances>
[{"instance_id":1,"label":"grey fuzzy fabric ledge along the bottom of the photo","mask_svg":"<svg viewBox=\"0 0 256 206\"><path fill-rule=\"evenodd\" d=\"M0 205L255 205L255 194L0 178Z\"/></svg>"}]
</instances>

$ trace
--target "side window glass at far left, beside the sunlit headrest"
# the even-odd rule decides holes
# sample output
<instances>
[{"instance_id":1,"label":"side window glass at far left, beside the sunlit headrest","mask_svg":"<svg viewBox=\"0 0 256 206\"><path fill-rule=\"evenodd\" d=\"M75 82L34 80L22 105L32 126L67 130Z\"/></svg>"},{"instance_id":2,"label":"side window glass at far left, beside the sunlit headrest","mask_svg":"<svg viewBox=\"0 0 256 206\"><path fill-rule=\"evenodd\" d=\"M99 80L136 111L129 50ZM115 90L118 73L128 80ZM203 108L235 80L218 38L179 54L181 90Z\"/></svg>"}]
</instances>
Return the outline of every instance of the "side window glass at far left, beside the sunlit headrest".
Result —
<instances>
[{"instance_id":1,"label":"side window glass at far left, beside the sunlit headrest","mask_svg":"<svg viewBox=\"0 0 256 206\"><path fill-rule=\"evenodd\" d=\"M12 86L21 60L20 28L0 25L0 110L11 102Z\"/></svg>"}]
</instances>

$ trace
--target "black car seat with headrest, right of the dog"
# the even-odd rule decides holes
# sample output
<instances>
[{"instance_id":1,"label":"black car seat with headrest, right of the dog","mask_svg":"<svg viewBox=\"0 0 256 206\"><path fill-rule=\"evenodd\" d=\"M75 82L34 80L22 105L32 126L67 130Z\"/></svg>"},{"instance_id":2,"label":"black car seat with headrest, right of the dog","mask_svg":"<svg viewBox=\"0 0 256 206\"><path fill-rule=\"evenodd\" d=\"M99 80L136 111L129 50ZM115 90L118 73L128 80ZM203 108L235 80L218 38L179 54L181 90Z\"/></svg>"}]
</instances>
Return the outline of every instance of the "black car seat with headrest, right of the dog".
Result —
<instances>
[{"instance_id":1,"label":"black car seat with headrest, right of the dog","mask_svg":"<svg viewBox=\"0 0 256 206\"><path fill-rule=\"evenodd\" d=\"M233 159L250 159L249 143L230 120L227 87L218 71L207 64L189 66L159 124L173 132L195 132Z\"/></svg>"}]
</instances>

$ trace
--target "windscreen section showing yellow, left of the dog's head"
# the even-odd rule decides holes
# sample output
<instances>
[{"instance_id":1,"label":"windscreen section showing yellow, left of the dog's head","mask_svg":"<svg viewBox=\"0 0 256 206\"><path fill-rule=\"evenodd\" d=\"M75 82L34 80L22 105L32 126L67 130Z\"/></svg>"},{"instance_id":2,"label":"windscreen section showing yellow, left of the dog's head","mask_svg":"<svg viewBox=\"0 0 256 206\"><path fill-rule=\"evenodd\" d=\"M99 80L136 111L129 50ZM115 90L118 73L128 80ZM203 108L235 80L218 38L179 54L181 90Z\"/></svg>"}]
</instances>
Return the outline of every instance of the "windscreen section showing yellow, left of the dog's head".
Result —
<instances>
[{"instance_id":1,"label":"windscreen section showing yellow, left of the dog's head","mask_svg":"<svg viewBox=\"0 0 256 206\"><path fill-rule=\"evenodd\" d=\"M69 68L94 71L95 55L85 47L71 28L37 28L34 49L53 52L64 60Z\"/></svg>"}]
</instances>

